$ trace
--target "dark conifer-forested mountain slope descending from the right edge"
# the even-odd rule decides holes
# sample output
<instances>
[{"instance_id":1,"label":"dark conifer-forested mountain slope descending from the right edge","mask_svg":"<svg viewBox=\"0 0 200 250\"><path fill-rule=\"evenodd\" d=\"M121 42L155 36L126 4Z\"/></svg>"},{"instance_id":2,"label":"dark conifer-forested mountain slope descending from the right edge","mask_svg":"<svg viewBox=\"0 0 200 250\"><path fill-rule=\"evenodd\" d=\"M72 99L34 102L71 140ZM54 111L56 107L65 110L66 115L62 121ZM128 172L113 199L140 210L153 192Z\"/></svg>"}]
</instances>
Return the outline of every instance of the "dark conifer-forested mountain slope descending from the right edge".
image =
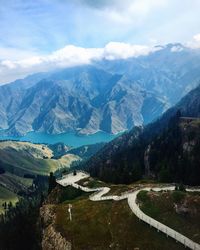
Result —
<instances>
[{"instance_id":1,"label":"dark conifer-forested mountain slope descending from the right edge","mask_svg":"<svg viewBox=\"0 0 200 250\"><path fill-rule=\"evenodd\" d=\"M142 176L200 184L200 86L161 118L106 144L81 167L107 182Z\"/></svg>"}]
</instances>

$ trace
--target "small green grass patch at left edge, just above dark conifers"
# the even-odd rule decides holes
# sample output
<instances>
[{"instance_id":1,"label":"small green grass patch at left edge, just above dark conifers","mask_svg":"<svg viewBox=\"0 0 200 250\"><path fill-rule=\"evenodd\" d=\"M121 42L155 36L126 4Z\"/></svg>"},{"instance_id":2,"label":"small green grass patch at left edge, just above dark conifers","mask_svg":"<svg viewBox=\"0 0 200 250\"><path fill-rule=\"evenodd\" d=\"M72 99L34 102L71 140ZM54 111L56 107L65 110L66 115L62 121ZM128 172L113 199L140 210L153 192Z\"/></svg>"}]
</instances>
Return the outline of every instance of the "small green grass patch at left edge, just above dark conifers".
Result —
<instances>
[{"instance_id":1,"label":"small green grass patch at left edge, just above dark conifers","mask_svg":"<svg viewBox=\"0 0 200 250\"><path fill-rule=\"evenodd\" d=\"M4 202L8 203L10 201L14 205L18 201L18 196L15 193L9 191L8 189L0 186L0 214L4 213L5 211L2 204Z\"/></svg>"}]
</instances>

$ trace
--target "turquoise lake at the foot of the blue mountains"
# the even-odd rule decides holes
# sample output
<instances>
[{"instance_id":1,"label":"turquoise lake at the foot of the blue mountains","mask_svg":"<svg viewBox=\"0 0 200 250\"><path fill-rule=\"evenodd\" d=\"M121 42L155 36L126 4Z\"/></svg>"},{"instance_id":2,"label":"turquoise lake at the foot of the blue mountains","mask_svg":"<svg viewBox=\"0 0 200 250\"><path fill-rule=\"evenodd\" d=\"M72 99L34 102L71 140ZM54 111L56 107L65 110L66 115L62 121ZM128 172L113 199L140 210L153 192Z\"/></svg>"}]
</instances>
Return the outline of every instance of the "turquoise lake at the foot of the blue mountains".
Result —
<instances>
[{"instance_id":1,"label":"turquoise lake at the foot of the blue mountains","mask_svg":"<svg viewBox=\"0 0 200 250\"><path fill-rule=\"evenodd\" d=\"M119 134L118 134L119 135ZM109 142L118 135L97 132L91 135L79 135L76 133L64 133L58 135L49 135L45 133L30 132L22 137L4 136L3 131L0 134L0 140L29 141L33 143L55 144L63 142L68 146L80 147L83 145L95 144L98 142Z\"/></svg>"}]
</instances>

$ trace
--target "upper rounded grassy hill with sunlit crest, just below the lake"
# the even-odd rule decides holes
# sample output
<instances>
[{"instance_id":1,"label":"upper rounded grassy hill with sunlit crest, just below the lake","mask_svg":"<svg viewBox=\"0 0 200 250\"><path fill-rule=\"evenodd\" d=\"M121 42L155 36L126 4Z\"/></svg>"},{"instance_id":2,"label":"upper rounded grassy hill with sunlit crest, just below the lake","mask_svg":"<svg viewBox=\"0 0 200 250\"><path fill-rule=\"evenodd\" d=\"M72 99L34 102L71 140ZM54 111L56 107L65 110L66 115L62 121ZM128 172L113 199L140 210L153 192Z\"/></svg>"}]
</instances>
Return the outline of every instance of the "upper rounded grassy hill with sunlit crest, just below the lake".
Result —
<instances>
[{"instance_id":1,"label":"upper rounded grassy hill with sunlit crest, just below the lake","mask_svg":"<svg viewBox=\"0 0 200 250\"><path fill-rule=\"evenodd\" d=\"M62 158L43 159L51 157L52 151L44 145L26 142L0 142L0 166L6 171L23 176L24 173L48 175L63 166L79 160L75 155L66 155Z\"/></svg>"}]
</instances>

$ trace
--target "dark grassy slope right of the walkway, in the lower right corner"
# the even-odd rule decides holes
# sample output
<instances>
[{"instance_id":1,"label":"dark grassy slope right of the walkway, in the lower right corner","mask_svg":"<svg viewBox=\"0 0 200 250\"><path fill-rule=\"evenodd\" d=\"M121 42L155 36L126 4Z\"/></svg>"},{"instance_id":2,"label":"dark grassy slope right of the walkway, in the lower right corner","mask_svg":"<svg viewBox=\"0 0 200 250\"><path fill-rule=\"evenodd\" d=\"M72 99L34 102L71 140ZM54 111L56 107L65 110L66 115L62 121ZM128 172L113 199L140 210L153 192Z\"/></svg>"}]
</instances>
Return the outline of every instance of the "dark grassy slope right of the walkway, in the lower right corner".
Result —
<instances>
[{"instance_id":1,"label":"dark grassy slope right of the walkway, in the lower right corner","mask_svg":"<svg viewBox=\"0 0 200 250\"><path fill-rule=\"evenodd\" d=\"M200 243L200 195L182 192L149 192L141 209L149 216ZM177 198L178 197L178 198ZM178 214L174 203L187 203L189 214Z\"/></svg>"}]
</instances>

